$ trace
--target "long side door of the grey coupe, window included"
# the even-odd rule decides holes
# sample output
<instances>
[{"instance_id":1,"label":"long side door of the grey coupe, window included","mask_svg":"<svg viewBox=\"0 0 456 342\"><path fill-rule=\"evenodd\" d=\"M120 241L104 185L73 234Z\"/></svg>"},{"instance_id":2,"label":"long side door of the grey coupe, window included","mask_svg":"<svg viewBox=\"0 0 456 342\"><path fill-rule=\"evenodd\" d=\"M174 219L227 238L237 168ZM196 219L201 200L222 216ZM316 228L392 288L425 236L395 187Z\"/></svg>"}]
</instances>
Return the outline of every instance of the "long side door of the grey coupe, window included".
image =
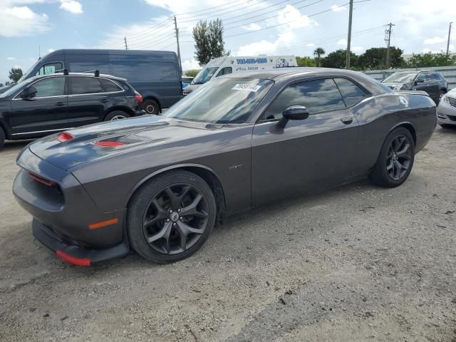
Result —
<instances>
[{"instance_id":1,"label":"long side door of the grey coupe, window included","mask_svg":"<svg viewBox=\"0 0 456 342\"><path fill-rule=\"evenodd\" d=\"M291 105L309 110L305 120L278 127ZM358 121L332 78L287 86L263 113L252 135L252 204L294 195L352 175Z\"/></svg>"}]
</instances>

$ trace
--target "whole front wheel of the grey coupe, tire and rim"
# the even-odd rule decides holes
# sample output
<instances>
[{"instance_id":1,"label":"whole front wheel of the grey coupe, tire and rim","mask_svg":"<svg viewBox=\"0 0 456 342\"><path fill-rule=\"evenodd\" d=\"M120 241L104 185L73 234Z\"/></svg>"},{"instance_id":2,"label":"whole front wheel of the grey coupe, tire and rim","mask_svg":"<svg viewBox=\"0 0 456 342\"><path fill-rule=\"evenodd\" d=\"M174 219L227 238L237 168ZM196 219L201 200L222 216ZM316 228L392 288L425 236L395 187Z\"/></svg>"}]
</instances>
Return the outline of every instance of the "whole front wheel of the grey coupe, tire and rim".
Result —
<instances>
[{"instance_id":1,"label":"whole front wheel of the grey coupe, tire and rim","mask_svg":"<svg viewBox=\"0 0 456 342\"><path fill-rule=\"evenodd\" d=\"M214 194L201 177L185 170L159 175L128 205L131 247L158 264L190 257L212 232L216 211Z\"/></svg>"}]
</instances>

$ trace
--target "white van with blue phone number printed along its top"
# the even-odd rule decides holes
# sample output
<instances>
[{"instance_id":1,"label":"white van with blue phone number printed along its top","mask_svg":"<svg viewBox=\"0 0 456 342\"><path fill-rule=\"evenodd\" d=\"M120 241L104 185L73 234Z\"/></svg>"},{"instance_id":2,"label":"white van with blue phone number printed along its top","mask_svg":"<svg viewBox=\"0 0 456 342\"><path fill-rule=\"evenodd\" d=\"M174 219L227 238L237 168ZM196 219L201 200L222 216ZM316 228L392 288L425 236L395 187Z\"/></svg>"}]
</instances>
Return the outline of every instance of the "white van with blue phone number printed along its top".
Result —
<instances>
[{"instance_id":1,"label":"white van with blue phone number printed along its top","mask_svg":"<svg viewBox=\"0 0 456 342\"><path fill-rule=\"evenodd\" d=\"M190 86L185 87L184 95L191 93L203 83L228 73L271 70L298 66L294 56L231 56L214 58L193 78Z\"/></svg>"}]
</instances>

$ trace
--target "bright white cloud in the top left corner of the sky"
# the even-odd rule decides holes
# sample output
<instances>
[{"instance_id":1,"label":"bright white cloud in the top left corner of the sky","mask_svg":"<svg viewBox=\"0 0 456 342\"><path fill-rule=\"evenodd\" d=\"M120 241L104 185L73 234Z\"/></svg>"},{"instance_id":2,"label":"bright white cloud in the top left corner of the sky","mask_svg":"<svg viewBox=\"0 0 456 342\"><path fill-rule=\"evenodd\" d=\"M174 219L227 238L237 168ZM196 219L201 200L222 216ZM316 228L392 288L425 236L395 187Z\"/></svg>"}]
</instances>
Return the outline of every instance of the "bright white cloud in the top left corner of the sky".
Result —
<instances>
[{"instance_id":1,"label":"bright white cloud in the top left corner of the sky","mask_svg":"<svg viewBox=\"0 0 456 342\"><path fill-rule=\"evenodd\" d=\"M10 1L0 2L0 36L19 37L43 33L48 30L48 16L37 14L28 6L11 6Z\"/></svg>"}]
</instances>

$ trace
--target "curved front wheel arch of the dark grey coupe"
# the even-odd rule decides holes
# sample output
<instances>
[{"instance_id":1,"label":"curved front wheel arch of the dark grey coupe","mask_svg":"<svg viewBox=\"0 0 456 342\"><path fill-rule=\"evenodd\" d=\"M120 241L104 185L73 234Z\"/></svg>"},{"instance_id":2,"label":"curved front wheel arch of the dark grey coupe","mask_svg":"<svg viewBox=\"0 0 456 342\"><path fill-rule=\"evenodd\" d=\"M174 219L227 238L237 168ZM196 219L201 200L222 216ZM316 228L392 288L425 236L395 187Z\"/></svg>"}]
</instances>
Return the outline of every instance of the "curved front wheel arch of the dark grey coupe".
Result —
<instances>
[{"instance_id":1,"label":"curved front wheel arch of the dark grey coupe","mask_svg":"<svg viewBox=\"0 0 456 342\"><path fill-rule=\"evenodd\" d=\"M149 180L152 180L154 177L157 177L158 175L162 175L165 172L170 172L170 171L175 171L175 170L186 170L192 173L195 173L195 175L199 176L204 180L204 182L207 182L207 185L212 190L212 193L214 194L215 197L215 204L217 205L217 217L216 217L216 224L222 224L223 222L223 217L224 217L224 212L226 208L226 202L225 202L225 195L224 195L224 190L222 187L222 182L219 179L219 176L217 175L217 172L212 170L210 167L207 167L205 165L200 165L200 164L178 164L178 165L172 165L170 167L164 167L160 170L157 170L155 172L152 172L150 175L147 175L146 177L142 178L140 182L138 182L135 187L128 193L128 201L127 201L127 208L130 205L131 199L133 198L133 195L135 195L135 192L140 189L143 185L145 185L146 182Z\"/></svg>"}]
</instances>

